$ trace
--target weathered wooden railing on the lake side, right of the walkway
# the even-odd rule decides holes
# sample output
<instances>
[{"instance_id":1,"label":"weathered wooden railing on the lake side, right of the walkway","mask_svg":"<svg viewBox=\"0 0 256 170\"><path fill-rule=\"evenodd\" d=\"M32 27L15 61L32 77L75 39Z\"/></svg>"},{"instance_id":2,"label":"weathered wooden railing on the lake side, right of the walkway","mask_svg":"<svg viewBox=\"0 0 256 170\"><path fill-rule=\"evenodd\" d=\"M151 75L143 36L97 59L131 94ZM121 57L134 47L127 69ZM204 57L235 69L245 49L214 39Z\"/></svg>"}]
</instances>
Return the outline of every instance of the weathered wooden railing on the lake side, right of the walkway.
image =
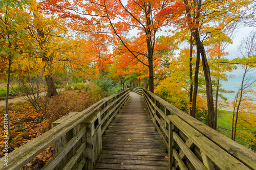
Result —
<instances>
[{"instance_id":1,"label":"weathered wooden railing on the lake side, right of the walkway","mask_svg":"<svg viewBox=\"0 0 256 170\"><path fill-rule=\"evenodd\" d=\"M145 88L153 123L169 154L169 169L256 169L256 154Z\"/></svg>"}]
</instances>

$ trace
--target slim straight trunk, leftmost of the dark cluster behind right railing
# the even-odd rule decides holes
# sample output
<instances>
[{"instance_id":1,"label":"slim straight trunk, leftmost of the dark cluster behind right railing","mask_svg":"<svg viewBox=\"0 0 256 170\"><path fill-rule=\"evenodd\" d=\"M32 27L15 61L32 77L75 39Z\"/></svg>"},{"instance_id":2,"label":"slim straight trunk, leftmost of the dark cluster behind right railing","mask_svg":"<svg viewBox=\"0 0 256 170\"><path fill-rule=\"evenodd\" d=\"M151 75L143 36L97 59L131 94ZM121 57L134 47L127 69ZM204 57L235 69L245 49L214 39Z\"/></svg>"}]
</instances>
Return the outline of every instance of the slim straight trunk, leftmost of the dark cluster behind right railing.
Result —
<instances>
[{"instance_id":1,"label":"slim straight trunk, leftmost of the dark cluster behind right railing","mask_svg":"<svg viewBox=\"0 0 256 170\"><path fill-rule=\"evenodd\" d=\"M190 80L190 89L189 89L189 113L190 116L193 114L192 103L193 103L193 83L192 83L192 55L193 55L193 36L190 36L190 54L189 54L189 80ZM195 117L195 116L193 116Z\"/></svg>"}]
</instances>

